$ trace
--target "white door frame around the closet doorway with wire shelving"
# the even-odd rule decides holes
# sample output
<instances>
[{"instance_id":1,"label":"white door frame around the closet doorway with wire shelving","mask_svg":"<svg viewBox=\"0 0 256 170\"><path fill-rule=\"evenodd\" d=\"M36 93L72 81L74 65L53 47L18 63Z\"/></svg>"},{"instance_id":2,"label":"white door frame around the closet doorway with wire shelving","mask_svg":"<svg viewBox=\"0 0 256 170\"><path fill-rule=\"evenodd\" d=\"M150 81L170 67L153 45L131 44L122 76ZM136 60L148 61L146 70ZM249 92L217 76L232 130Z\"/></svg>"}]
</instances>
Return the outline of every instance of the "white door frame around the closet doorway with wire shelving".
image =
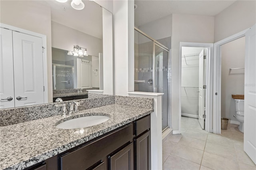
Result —
<instances>
[{"instance_id":1,"label":"white door frame around the closet doorway with wire shelving","mask_svg":"<svg viewBox=\"0 0 256 170\"><path fill-rule=\"evenodd\" d=\"M213 81L213 43L194 43L194 42L180 42L180 82L179 82L179 131L181 133L181 63L182 63L182 47L203 47L208 48L208 79L207 88L205 91L205 98L206 98L206 121L204 129L207 132L212 132L212 81Z\"/></svg>"}]
</instances>

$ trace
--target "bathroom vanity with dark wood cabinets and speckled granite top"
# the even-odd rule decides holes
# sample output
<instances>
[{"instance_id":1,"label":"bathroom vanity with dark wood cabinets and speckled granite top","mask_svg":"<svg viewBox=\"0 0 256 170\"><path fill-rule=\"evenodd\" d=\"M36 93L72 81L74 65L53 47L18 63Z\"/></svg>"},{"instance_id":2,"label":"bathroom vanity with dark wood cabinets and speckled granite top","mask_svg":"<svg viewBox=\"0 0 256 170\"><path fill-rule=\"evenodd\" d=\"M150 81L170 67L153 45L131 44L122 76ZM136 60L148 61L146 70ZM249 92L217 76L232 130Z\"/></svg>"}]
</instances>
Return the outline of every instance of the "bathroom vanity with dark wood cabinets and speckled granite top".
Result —
<instances>
[{"instance_id":1,"label":"bathroom vanity with dark wood cabinets and speckled granite top","mask_svg":"<svg viewBox=\"0 0 256 170\"><path fill-rule=\"evenodd\" d=\"M137 101L126 104L133 99ZM62 117L57 109L57 115L51 117L0 127L1 169L150 169L153 99L111 96L78 102L82 111L71 116ZM63 103L70 105L69 101ZM20 109L26 112L27 108ZM10 114L10 109L2 111ZM56 127L70 119L93 115L110 119L86 128Z\"/></svg>"}]
</instances>

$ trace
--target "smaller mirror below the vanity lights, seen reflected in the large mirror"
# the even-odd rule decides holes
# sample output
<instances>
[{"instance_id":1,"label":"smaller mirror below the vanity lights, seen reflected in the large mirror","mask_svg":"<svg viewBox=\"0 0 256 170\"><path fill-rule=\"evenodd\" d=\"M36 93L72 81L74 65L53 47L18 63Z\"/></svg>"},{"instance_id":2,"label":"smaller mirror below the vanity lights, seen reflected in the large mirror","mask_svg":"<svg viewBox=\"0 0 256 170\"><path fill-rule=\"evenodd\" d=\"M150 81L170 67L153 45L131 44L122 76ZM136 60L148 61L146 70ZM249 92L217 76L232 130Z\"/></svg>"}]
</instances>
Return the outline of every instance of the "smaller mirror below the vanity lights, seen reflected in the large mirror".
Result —
<instances>
[{"instance_id":1,"label":"smaller mirror below the vanity lights, seen reflected in the large mirror","mask_svg":"<svg viewBox=\"0 0 256 170\"><path fill-rule=\"evenodd\" d=\"M59 89L99 89L100 68L97 56L73 56L52 47L52 85Z\"/></svg>"}]
</instances>

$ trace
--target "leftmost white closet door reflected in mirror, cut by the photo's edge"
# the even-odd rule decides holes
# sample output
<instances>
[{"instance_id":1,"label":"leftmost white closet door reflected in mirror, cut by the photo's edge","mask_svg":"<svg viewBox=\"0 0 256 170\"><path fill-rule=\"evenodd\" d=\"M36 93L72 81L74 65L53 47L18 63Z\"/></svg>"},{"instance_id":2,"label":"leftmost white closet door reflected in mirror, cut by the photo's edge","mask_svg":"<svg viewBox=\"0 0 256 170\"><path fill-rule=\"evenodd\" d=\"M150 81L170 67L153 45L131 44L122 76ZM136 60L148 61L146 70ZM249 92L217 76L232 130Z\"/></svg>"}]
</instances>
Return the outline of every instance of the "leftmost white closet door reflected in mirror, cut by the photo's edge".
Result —
<instances>
[{"instance_id":1,"label":"leftmost white closet door reflected in mirror, cut by the photo's edge","mask_svg":"<svg viewBox=\"0 0 256 170\"><path fill-rule=\"evenodd\" d=\"M0 98L0 109L14 107L12 31L4 28L0 32Z\"/></svg>"}]
</instances>

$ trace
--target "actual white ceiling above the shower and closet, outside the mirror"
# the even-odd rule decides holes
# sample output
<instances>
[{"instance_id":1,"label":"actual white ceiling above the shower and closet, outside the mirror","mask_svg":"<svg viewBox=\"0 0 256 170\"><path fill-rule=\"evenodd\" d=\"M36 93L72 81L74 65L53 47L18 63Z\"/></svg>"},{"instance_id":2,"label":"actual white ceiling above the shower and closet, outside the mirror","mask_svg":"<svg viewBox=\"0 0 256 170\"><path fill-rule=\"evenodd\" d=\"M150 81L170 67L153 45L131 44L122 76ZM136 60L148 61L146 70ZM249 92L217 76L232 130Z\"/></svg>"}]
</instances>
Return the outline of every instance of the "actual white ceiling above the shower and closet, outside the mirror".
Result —
<instances>
[{"instance_id":1,"label":"actual white ceiling above the shower and closet, outside the mirror","mask_svg":"<svg viewBox=\"0 0 256 170\"><path fill-rule=\"evenodd\" d=\"M135 0L135 26L142 26L170 14L215 16L235 0Z\"/></svg>"}]
</instances>

